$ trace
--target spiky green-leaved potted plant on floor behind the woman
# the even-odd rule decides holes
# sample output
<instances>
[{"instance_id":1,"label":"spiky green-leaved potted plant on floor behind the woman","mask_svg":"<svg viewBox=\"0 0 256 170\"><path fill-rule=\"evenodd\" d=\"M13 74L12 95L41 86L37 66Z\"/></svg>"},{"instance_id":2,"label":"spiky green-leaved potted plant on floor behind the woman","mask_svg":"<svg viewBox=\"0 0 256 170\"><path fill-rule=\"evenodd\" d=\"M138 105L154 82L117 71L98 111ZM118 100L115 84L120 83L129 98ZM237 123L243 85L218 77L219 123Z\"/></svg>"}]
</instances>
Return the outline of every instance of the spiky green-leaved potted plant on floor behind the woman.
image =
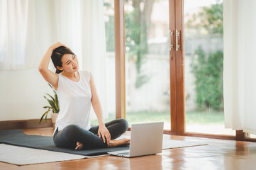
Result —
<instances>
[{"instance_id":1,"label":"spiky green-leaved potted plant on floor behind the woman","mask_svg":"<svg viewBox=\"0 0 256 170\"><path fill-rule=\"evenodd\" d=\"M57 98L56 91L52 88L52 86L50 84L48 84L48 85L50 86L52 91L55 93L55 96L52 97L50 94L47 94L48 96L50 96L50 99L47 98L46 96L43 96L48 101L50 106L44 106L43 107L43 108L48 108L48 111L45 111L45 113L43 113L39 123L42 122L43 118L45 118L45 120L47 120L48 113L51 113L52 126L53 126L53 128L55 128L55 122L56 122L56 119L57 119L57 115L60 111L60 106L59 106L59 100Z\"/></svg>"}]
</instances>

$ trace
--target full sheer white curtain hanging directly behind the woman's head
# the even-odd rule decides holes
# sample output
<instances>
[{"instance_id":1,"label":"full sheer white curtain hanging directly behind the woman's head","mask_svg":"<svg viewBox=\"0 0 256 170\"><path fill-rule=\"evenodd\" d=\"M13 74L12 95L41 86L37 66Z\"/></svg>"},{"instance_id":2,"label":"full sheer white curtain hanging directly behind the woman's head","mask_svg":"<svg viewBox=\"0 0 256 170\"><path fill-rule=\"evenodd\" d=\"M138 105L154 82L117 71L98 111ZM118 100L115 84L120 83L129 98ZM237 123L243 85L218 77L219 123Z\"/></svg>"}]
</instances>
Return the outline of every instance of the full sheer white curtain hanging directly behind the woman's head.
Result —
<instances>
[{"instance_id":1,"label":"full sheer white curtain hanging directly behind the woman's head","mask_svg":"<svg viewBox=\"0 0 256 170\"><path fill-rule=\"evenodd\" d=\"M77 55L80 69L87 69L93 74L106 118L106 39L103 7L102 0L55 0L57 39ZM96 118L92 108L91 115Z\"/></svg>"}]
</instances>

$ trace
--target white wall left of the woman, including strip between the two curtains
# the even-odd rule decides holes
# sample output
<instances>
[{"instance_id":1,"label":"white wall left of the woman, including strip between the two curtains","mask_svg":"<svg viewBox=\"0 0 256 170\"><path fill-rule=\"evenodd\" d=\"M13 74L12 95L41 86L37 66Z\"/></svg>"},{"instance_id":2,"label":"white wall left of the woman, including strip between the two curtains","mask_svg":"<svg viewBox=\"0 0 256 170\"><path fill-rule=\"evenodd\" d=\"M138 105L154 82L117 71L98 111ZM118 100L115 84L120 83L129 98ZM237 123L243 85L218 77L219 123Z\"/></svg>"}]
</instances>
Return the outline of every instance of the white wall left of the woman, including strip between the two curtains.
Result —
<instances>
[{"instance_id":1,"label":"white wall left of the woman, including strip between the two curtains","mask_svg":"<svg viewBox=\"0 0 256 170\"><path fill-rule=\"evenodd\" d=\"M48 106L48 102L43 96L53 92L37 67L48 47L57 42L53 8L54 1L35 1L34 50L38 64L32 69L0 71L0 121L39 119L46 111L43 106Z\"/></svg>"}]
</instances>

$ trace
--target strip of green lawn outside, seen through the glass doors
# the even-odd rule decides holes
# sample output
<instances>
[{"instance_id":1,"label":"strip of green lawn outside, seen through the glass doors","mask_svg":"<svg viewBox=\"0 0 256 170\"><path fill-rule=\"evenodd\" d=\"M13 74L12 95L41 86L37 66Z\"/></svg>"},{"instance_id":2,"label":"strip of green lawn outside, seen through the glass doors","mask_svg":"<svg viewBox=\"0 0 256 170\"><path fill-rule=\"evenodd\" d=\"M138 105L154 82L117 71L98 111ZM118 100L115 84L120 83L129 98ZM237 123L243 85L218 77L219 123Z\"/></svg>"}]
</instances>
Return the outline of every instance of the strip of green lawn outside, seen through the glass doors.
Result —
<instances>
[{"instance_id":1,"label":"strip of green lawn outside, seen through the glass doors","mask_svg":"<svg viewBox=\"0 0 256 170\"><path fill-rule=\"evenodd\" d=\"M116 115L109 114L105 122L113 120ZM146 123L146 122L157 122L165 121L170 122L169 112L128 112L126 113L126 120L131 125L133 123ZM186 113L186 124L223 124L224 114L223 112L211 111L211 112L199 112L191 111ZM91 120L91 125L98 125L98 120Z\"/></svg>"}]
</instances>

